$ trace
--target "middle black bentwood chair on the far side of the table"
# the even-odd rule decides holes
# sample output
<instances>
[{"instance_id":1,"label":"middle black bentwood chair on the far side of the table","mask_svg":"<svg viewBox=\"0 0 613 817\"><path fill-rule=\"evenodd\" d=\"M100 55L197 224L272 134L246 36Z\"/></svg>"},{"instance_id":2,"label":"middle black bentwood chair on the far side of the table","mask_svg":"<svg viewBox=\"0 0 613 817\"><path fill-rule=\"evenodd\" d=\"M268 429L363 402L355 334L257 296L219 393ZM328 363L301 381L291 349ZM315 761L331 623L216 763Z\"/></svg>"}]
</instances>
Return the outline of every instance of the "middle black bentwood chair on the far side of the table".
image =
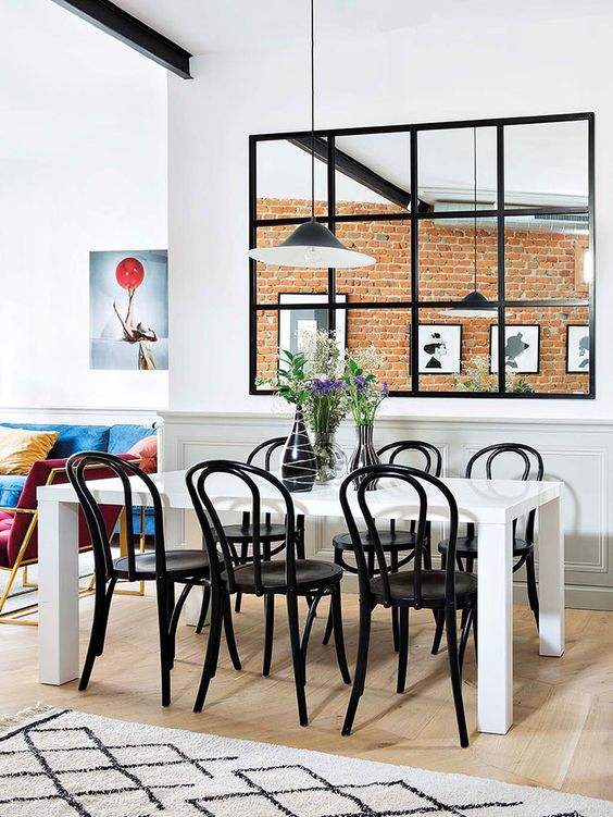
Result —
<instances>
[{"instance_id":1,"label":"middle black bentwood chair on the far side of the table","mask_svg":"<svg viewBox=\"0 0 613 817\"><path fill-rule=\"evenodd\" d=\"M416 453L424 459L423 470L426 473L434 473L435 476L440 476L442 471L442 455L439 449L431 443L425 443L418 440L400 440L397 443L389 443L377 451L378 457L387 455L388 462L390 465L396 463L396 459L403 453ZM396 520L389 520L389 527L387 530L378 529L378 536L384 553L389 555L389 565L393 572L398 571L404 565L408 565L415 553L415 522L411 522L409 530L398 530L396 527ZM375 564L375 546L368 531L360 531L360 541L362 548L366 554L366 564L371 578L375 577L378 572ZM351 541L350 533L339 533L333 537L334 547L334 560L335 565L340 565L347 572L356 573L358 570L350 562L345 559L345 553L347 550L353 550L353 543ZM430 523L426 524L426 536L424 541L424 561L427 568L431 568L431 552L430 552ZM406 555L401 558L401 554L405 552ZM398 609L392 607L391 610L391 624L393 636L393 648L398 652L399 648L399 627L398 627ZM324 644L327 644L331 634L333 620L331 610L328 615L328 621L324 635Z\"/></svg>"}]
</instances>

